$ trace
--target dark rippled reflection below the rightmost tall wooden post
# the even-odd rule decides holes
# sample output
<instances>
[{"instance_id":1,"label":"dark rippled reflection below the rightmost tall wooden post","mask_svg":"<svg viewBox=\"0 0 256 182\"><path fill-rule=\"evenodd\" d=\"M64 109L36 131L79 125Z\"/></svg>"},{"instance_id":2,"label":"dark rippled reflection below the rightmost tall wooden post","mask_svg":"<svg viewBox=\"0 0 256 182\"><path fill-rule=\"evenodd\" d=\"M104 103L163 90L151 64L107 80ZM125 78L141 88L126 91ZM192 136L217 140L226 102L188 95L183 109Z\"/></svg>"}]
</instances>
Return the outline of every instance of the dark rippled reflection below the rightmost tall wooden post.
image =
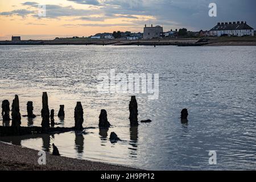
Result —
<instances>
[{"instance_id":1,"label":"dark rippled reflection below the rightmost tall wooden post","mask_svg":"<svg viewBox=\"0 0 256 182\"><path fill-rule=\"evenodd\" d=\"M137 148L138 148L138 126L130 127L130 142L131 147L129 154L131 158L137 158Z\"/></svg>"}]
</instances>

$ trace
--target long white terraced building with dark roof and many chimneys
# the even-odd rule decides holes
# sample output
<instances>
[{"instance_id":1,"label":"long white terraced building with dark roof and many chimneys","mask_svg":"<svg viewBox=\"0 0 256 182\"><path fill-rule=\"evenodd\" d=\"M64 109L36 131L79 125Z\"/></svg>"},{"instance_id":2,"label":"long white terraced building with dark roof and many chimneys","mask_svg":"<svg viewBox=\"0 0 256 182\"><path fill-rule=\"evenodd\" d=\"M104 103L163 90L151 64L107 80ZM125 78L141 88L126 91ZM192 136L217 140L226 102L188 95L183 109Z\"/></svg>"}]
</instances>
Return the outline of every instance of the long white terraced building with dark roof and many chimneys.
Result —
<instances>
[{"instance_id":1,"label":"long white terraced building with dark roof and many chimneys","mask_svg":"<svg viewBox=\"0 0 256 182\"><path fill-rule=\"evenodd\" d=\"M254 28L251 28L246 22L225 22L218 23L210 30L210 36L254 36Z\"/></svg>"}]
</instances>

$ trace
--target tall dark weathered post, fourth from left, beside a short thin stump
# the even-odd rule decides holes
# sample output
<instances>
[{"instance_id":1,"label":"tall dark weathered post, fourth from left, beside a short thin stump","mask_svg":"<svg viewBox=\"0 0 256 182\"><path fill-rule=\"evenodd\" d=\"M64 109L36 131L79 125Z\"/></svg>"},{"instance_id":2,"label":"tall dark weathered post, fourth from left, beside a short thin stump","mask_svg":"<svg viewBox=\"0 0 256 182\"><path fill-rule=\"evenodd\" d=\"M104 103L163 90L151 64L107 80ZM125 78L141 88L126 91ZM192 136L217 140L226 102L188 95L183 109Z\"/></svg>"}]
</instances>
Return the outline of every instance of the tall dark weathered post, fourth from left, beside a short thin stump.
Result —
<instances>
[{"instance_id":1,"label":"tall dark weathered post, fourth from left, beside a short thin stump","mask_svg":"<svg viewBox=\"0 0 256 182\"><path fill-rule=\"evenodd\" d=\"M43 129L48 129L49 128L49 106L48 106L48 96L46 92L43 92L42 104L43 104L43 109L41 110L41 116L42 116L41 125Z\"/></svg>"}]
</instances>

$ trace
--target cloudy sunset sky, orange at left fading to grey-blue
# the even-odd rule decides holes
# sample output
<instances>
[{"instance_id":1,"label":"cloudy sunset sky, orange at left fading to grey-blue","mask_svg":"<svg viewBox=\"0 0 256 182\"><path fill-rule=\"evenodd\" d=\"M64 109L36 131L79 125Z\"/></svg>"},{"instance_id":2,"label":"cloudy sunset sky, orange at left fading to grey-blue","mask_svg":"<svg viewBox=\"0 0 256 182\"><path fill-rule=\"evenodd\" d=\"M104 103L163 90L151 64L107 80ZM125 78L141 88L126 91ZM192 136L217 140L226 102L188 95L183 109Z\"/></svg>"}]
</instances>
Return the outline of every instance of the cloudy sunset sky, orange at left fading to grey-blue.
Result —
<instances>
[{"instance_id":1,"label":"cloudy sunset sky, orange at left fading to grey-blue","mask_svg":"<svg viewBox=\"0 0 256 182\"><path fill-rule=\"evenodd\" d=\"M216 3L216 17L208 15L209 3ZM144 24L200 31L243 20L255 28L255 7L255 0L0 0L0 40L143 32Z\"/></svg>"}]
</instances>

